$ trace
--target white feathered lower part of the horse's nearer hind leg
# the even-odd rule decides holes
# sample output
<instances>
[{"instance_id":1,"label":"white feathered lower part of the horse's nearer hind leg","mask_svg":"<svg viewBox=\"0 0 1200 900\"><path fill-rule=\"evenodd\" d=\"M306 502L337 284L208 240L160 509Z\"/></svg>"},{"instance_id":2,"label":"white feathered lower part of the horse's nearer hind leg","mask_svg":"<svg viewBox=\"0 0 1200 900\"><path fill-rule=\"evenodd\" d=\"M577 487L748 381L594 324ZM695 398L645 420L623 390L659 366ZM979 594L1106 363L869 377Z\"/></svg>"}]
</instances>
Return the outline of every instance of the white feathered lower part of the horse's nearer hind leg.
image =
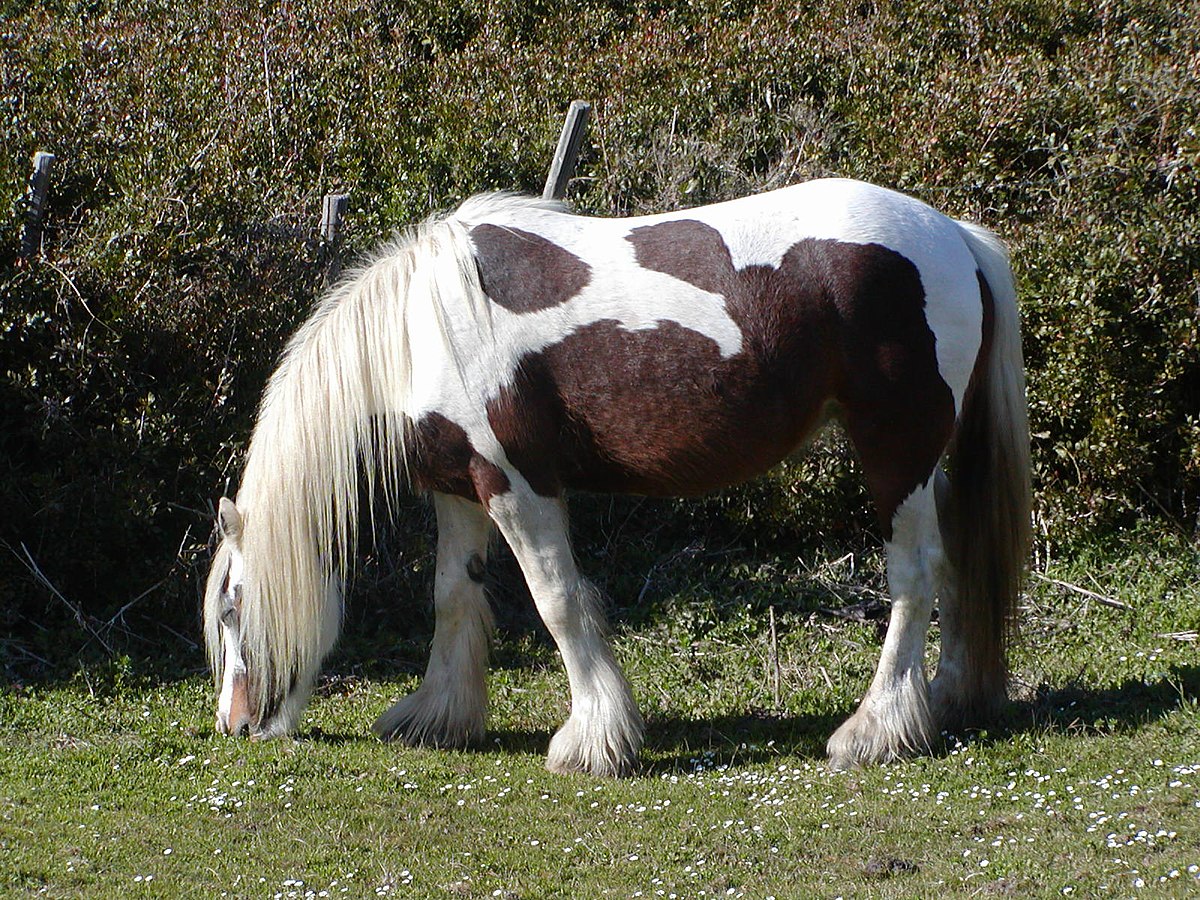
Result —
<instances>
[{"instance_id":1,"label":"white feathered lower part of the horse's nearer hind leg","mask_svg":"<svg viewBox=\"0 0 1200 900\"><path fill-rule=\"evenodd\" d=\"M866 696L826 746L834 768L928 752L937 733L924 661L934 594L944 566L932 479L900 505L887 553L892 619Z\"/></svg>"}]
</instances>

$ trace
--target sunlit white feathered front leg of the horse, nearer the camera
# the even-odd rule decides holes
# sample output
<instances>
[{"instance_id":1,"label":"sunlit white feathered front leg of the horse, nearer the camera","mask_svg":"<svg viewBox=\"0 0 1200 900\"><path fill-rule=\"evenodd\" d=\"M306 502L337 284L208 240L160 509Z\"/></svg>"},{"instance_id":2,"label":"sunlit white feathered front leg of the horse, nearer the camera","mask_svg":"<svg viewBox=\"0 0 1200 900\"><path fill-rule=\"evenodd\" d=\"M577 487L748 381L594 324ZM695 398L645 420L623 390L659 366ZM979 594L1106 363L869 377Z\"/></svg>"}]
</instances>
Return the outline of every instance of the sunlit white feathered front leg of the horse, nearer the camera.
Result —
<instances>
[{"instance_id":1,"label":"sunlit white feathered front leg of the horse, nearer the camera","mask_svg":"<svg viewBox=\"0 0 1200 900\"><path fill-rule=\"evenodd\" d=\"M571 686L571 714L550 742L546 768L631 773L642 748L642 716L608 647L599 592L576 569L563 500L515 484L492 498L488 511L521 565Z\"/></svg>"}]
</instances>

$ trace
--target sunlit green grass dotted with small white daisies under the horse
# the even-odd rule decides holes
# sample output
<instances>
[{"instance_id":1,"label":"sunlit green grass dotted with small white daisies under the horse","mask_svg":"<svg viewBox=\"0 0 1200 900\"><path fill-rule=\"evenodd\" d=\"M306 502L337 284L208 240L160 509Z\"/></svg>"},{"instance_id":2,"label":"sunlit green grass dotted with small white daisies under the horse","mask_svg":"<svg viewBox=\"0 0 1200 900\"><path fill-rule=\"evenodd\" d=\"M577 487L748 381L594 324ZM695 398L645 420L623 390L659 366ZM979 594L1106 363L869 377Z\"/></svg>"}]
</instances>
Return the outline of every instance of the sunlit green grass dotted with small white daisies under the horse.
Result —
<instances>
[{"instance_id":1,"label":"sunlit green grass dotted with small white daisies under the horse","mask_svg":"<svg viewBox=\"0 0 1200 900\"><path fill-rule=\"evenodd\" d=\"M623 781L542 769L566 691L536 635L498 638L490 743L463 752L368 734L373 716L415 686L394 664L418 659L420 641L376 647L386 658L364 661L356 647L367 636L352 636L299 738L268 744L214 733L198 659L178 678L119 660L10 685L0 695L0 892L1200 889L1200 666L1187 640L1200 628L1195 545L1144 533L1043 562L1049 577L1133 608L1036 580L1016 698L997 727L948 737L935 757L830 773L823 742L878 652L874 625L816 612L852 599L847 583L878 584L877 559L859 560L853 574L850 565L680 564L664 576L665 595L648 598L654 614L618 624L616 635L649 726L644 769Z\"/></svg>"}]
</instances>

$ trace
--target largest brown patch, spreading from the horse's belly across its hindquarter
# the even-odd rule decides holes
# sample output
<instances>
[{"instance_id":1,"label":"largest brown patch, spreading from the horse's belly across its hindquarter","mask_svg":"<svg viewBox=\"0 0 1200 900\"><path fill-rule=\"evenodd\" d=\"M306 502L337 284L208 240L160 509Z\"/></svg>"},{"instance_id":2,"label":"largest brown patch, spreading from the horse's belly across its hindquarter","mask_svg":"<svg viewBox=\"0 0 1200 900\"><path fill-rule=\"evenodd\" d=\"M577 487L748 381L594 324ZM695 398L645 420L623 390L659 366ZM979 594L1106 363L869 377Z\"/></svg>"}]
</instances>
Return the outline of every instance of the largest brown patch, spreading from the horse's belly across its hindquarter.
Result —
<instances>
[{"instance_id":1,"label":"largest brown patch, spreading from the horse's belly across its hindquarter","mask_svg":"<svg viewBox=\"0 0 1200 900\"><path fill-rule=\"evenodd\" d=\"M608 320L527 355L487 413L533 488L706 493L774 466L833 407L890 539L954 428L916 266L878 245L804 240L778 269L736 270L720 234L691 220L628 240L641 265L722 294L743 349L721 359L677 323Z\"/></svg>"}]
</instances>

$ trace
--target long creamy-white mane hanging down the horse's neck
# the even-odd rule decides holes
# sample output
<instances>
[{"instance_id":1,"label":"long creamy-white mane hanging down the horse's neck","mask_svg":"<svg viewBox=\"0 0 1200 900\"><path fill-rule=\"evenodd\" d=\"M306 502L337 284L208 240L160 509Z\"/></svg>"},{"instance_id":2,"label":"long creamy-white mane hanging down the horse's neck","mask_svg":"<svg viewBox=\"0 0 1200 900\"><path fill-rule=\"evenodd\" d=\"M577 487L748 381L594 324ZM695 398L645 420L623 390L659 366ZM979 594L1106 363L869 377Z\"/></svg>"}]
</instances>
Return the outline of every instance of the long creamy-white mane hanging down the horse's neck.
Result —
<instances>
[{"instance_id":1,"label":"long creamy-white mane hanging down the horse's neck","mask_svg":"<svg viewBox=\"0 0 1200 900\"><path fill-rule=\"evenodd\" d=\"M487 317L468 223L512 205L542 204L472 198L384 246L319 301L266 385L236 499L242 652L258 676L251 702L259 715L269 698L310 684L332 646L360 497L373 509L380 486L390 500L407 482L413 342L438 341L462 371L464 350L449 323ZM216 616L205 618L220 682Z\"/></svg>"}]
</instances>

